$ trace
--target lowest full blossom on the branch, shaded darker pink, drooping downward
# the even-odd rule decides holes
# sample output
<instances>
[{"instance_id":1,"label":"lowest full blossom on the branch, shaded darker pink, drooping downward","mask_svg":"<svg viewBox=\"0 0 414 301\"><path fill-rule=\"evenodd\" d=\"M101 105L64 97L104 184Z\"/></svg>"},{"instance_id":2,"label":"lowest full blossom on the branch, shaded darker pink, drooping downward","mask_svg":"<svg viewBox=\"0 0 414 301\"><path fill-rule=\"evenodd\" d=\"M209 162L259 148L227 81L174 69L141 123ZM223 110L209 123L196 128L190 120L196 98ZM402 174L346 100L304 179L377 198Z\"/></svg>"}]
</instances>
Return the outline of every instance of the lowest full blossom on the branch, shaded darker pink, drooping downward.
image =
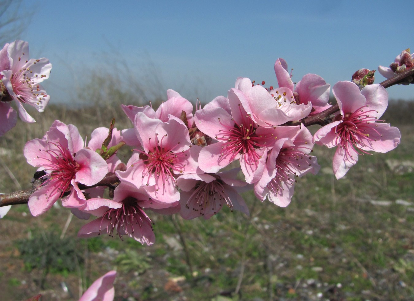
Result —
<instances>
[{"instance_id":1,"label":"lowest full blossom on the branch, shaded darker pink, drooping downward","mask_svg":"<svg viewBox=\"0 0 414 301\"><path fill-rule=\"evenodd\" d=\"M176 212L174 205L154 202L144 189L121 183L114 191L113 201L101 198L87 201L83 210L100 217L82 226L78 236L89 238L106 232L113 237L116 231L121 240L128 235L142 244L152 245L155 242L152 222L143 208L171 208L171 212Z\"/></svg>"}]
</instances>

